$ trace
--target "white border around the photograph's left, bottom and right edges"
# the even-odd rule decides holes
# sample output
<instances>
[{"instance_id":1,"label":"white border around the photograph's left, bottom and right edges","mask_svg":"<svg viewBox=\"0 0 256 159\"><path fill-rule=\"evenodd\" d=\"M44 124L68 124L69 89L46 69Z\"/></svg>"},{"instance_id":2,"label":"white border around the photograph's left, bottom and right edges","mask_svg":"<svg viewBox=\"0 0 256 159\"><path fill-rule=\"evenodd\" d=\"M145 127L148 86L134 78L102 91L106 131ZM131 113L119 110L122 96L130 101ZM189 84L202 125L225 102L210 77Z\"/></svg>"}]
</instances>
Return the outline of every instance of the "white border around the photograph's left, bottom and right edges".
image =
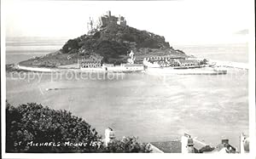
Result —
<instances>
[{"instance_id":1,"label":"white border around the photograph's left, bottom and right edges","mask_svg":"<svg viewBox=\"0 0 256 159\"><path fill-rule=\"evenodd\" d=\"M254 1L251 2L251 14L248 17L252 20L249 30L249 132L250 132L250 153L249 154L80 154L80 153L64 153L64 154L11 154L5 153L5 101L6 101L6 72L5 72L5 10L4 2L1 1L1 111L2 111L2 155L3 158L86 158L86 157L104 157L104 158L131 158L131 157L147 157L147 158L256 158L256 139L255 139L255 10ZM146 3L146 2L145 2ZM217 10L218 11L218 10Z\"/></svg>"}]
</instances>

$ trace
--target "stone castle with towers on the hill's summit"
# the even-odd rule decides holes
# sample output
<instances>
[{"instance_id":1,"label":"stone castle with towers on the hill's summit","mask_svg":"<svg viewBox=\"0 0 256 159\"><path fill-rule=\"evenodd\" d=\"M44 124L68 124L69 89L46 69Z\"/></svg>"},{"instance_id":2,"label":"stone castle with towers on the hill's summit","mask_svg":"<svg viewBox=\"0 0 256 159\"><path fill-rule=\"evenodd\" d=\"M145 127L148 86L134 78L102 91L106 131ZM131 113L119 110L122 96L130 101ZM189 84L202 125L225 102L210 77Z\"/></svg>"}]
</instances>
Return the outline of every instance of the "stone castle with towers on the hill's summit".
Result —
<instances>
[{"instance_id":1,"label":"stone castle with towers on the hill's summit","mask_svg":"<svg viewBox=\"0 0 256 159\"><path fill-rule=\"evenodd\" d=\"M93 34L96 31L99 31L102 27L108 26L109 24L126 26L126 20L123 16L119 15L119 17L116 17L111 15L111 11L108 10L106 14L103 14L96 21L90 18L89 22L87 23L88 34Z\"/></svg>"}]
</instances>

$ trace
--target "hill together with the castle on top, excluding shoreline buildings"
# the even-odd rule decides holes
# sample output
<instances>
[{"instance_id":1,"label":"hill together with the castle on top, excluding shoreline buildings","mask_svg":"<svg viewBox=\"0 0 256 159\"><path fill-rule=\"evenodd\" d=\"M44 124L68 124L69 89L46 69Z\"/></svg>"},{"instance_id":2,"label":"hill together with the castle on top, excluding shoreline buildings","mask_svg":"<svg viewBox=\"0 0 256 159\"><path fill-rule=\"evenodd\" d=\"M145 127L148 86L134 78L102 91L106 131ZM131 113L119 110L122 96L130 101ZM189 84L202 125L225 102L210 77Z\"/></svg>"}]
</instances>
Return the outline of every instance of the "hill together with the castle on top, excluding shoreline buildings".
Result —
<instances>
[{"instance_id":1,"label":"hill together with the castle on top, excluding shoreline buildings","mask_svg":"<svg viewBox=\"0 0 256 159\"><path fill-rule=\"evenodd\" d=\"M136 63L155 55L187 56L183 51L170 47L165 37L127 26L124 17L115 17L110 11L97 22L90 20L88 29L87 34L68 40L60 50L22 61L19 65L58 67L77 64L79 59L84 58L119 65L127 61L131 50L136 56Z\"/></svg>"}]
</instances>

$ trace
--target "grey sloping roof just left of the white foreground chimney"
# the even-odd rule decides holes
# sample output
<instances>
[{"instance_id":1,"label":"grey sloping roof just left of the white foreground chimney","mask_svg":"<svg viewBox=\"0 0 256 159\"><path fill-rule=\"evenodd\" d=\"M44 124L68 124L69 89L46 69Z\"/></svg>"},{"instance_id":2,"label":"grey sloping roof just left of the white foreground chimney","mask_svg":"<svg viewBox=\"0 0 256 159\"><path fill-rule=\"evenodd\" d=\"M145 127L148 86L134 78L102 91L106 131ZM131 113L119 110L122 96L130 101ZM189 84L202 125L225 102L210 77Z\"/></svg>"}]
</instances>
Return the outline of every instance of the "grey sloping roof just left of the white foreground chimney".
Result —
<instances>
[{"instance_id":1,"label":"grey sloping roof just left of the white foreground chimney","mask_svg":"<svg viewBox=\"0 0 256 159\"><path fill-rule=\"evenodd\" d=\"M165 142L151 142L159 150L165 153L181 153L181 141L165 141Z\"/></svg>"}]
</instances>

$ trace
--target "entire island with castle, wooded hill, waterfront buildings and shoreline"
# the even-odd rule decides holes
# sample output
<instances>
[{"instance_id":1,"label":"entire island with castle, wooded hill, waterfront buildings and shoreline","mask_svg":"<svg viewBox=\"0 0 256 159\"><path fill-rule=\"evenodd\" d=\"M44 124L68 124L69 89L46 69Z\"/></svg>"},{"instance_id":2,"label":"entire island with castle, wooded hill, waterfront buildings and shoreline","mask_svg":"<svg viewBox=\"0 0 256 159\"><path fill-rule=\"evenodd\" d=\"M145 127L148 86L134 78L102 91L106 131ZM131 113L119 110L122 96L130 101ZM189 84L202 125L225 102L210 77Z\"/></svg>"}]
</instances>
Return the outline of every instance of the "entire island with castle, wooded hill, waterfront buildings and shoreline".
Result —
<instances>
[{"instance_id":1,"label":"entire island with castle, wooded hill, waterfront buildings and shoreline","mask_svg":"<svg viewBox=\"0 0 256 159\"><path fill-rule=\"evenodd\" d=\"M114 16L111 11L98 20L90 18L87 27L87 34L68 40L60 50L21 61L17 68L26 71L113 72L161 68L184 74L191 69L193 74L226 73L212 68L209 70L211 64L207 60L196 59L172 48L165 37L128 26L125 17ZM206 66L207 72L201 71L200 68Z\"/></svg>"}]
</instances>

